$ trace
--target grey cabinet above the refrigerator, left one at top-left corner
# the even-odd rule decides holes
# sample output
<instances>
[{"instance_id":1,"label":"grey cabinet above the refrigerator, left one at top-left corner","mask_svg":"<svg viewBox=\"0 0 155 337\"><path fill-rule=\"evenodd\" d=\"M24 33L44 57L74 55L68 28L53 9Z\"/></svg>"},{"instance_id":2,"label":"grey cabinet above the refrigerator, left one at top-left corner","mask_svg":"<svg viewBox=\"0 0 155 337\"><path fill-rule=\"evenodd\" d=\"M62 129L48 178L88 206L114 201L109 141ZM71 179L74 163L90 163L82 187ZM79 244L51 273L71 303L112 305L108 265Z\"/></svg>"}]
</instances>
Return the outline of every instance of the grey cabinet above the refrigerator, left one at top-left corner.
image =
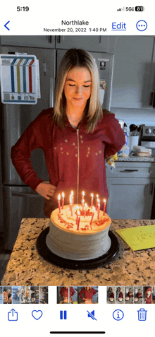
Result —
<instances>
[{"instance_id":1,"label":"grey cabinet above the refrigerator, left one at top-left corner","mask_svg":"<svg viewBox=\"0 0 155 337\"><path fill-rule=\"evenodd\" d=\"M1 35L1 45L20 46L20 47L55 48L55 36L54 35Z\"/></svg>"}]
</instances>

